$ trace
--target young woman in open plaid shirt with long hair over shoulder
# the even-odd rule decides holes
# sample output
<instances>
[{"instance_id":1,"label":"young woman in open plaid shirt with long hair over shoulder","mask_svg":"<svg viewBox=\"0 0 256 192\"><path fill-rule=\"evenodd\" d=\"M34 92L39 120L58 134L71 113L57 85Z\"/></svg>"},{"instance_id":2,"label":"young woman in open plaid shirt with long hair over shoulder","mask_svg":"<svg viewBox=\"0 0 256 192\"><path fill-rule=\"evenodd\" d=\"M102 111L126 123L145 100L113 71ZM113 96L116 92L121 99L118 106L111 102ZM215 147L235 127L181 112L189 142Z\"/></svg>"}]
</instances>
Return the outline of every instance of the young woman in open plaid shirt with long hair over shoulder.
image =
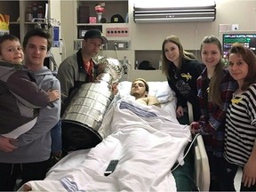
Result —
<instances>
[{"instance_id":1,"label":"young woman in open plaid shirt with long hair over shoulder","mask_svg":"<svg viewBox=\"0 0 256 192\"><path fill-rule=\"evenodd\" d=\"M224 180L224 135L226 111L235 92L236 81L224 68L221 60L221 44L215 36L205 36L201 58L206 66L197 79L201 117L191 124L192 133L201 133L210 164L210 191L223 190Z\"/></svg>"}]
</instances>

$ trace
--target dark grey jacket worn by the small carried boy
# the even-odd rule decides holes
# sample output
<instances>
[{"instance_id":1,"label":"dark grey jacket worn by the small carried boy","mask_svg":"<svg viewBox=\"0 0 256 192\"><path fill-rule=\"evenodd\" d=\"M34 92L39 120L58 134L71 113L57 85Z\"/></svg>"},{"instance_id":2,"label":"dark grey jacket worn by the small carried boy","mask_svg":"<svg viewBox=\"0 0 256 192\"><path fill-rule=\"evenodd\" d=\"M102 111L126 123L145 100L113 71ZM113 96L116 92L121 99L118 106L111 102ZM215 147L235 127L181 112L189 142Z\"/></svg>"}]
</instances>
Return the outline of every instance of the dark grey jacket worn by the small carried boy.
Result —
<instances>
[{"instance_id":1,"label":"dark grey jacket worn by the small carried boy","mask_svg":"<svg viewBox=\"0 0 256 192\"><path fill-rule=\"evenodd\" d=\"M46 107L50 103L47 92L36 85L32 71L21 64L2 60L0 100L0 134L10 133L31 122L38 116L38 108Z\"/></svg>"}]
</instances>

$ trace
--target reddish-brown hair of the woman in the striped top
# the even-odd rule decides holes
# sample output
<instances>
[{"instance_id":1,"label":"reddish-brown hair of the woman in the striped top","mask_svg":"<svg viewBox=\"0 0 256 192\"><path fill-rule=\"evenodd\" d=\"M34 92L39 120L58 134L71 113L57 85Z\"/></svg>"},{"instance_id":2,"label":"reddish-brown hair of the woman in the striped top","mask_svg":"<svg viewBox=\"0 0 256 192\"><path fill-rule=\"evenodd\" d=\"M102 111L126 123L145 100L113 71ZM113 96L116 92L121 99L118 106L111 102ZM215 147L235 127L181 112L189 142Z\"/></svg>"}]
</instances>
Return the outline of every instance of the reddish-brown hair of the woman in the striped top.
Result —
<instances>
[{"instance_id":1,"label":"reddish-brown hair of the woman in the striped top","mask_svg":"<svg viewBox=\"0 0 256 192\"><path fill-rule=\"evenodd\" d=\"M231 53L241 55L244 62L248 65L248 74L244 78L244 84L241 87L243 91L247 90L251 84L256 83L256 56L252 50L244 47L242 44L233 44L228 52L228 58Z\"/></svg>"}]
</instances>

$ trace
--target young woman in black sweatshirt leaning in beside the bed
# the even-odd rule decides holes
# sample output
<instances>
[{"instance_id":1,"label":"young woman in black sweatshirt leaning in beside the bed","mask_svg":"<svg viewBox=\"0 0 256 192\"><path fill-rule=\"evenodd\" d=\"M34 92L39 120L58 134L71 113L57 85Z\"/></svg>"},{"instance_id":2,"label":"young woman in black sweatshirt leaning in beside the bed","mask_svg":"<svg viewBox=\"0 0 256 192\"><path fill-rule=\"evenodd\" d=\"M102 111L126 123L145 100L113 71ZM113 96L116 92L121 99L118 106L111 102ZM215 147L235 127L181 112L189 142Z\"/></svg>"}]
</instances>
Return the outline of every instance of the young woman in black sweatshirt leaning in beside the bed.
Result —
<instances>
[{"instance_id":1,"label":"young woman in black sweatshirt leaning in beside the bed","mask_svg":"<svg viewBox=\"0 0 256 192\"><path fill-rule=\"evenodd\" d=\"M196 56L183 50L177 36L167 36L162 44L163 68L168 84L176 93L176 115L180 124L189 124L184 108L189 101L193 106L194 120L200 117L197 99L196 79L201 75L204 65L196 60Z\"/></svg>"}]
</instances>

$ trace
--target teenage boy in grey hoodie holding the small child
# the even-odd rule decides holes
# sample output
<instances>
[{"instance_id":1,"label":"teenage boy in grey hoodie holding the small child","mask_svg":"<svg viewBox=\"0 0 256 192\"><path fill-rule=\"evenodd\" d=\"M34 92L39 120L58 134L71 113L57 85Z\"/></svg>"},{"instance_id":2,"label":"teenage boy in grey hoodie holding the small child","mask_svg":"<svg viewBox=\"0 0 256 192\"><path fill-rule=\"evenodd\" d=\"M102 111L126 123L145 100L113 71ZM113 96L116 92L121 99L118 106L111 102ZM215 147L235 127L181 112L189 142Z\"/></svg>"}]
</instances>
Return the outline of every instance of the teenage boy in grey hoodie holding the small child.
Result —
<instances>
[{"instance_id":1,"label":"teenage boy in grey hoodie holding the small child","mask_svg":"<svg viewBox=\"0 0 256 192\"><path fill-rule=\"evenodd\" d=\"M29 30L22 45L24 64L33 71L36 84L44 92L60 92L60 82L52 75L52 71L44 66L44 59L52 47L51 41L52 36L43 32L42 28ZM21 184L28 180L44 180L50 167L49 158L54 140L51 138L52 127L59 121L60 100L55 100L51 107L40 108L33 128L21 134L14 142L13 139L0 136L0 191L14 191L18 178L22 180Z\"/></svg>"}]
</instances>

